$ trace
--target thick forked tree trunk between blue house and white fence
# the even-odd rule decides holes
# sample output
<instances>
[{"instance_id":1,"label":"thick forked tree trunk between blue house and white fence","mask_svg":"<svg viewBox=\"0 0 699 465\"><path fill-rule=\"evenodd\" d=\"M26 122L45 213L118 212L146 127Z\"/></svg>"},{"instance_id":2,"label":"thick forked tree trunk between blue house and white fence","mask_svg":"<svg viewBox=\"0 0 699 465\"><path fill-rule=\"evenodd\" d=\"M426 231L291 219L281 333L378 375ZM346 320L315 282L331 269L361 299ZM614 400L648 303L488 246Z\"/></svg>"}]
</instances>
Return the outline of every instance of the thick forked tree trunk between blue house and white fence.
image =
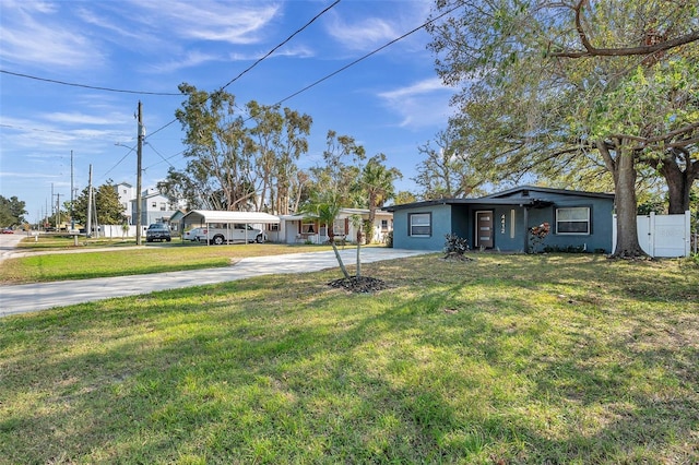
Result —
<instances>
[{"instance_id":1,"label":"thick forked tree trunk between blue house and white fence","mask_svg":"<svg viewBox=\"0 0 699 465\"><path fill-rule=\"evenodd\" d=\"M633 258L645 257L638 242L637 227L637 200L636 200L636 154L624 150L617 141L614 151L616 159L609 153L609 147L604 141L597 141L596 145L604 157L607 168L614 175L614 194L616 207L616 249L612 257Z\"/></svg>"}]
</instances>

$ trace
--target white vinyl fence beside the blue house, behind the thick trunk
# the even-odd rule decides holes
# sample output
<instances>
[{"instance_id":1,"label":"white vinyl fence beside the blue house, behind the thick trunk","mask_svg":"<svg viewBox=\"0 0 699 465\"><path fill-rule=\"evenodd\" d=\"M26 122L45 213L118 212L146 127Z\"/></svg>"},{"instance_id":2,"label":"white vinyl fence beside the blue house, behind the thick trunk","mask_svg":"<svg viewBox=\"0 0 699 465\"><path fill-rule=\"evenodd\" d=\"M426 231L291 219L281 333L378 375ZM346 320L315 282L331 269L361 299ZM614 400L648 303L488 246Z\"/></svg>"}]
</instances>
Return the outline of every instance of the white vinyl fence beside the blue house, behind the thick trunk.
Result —
<instances>
[{"instance_id":1,"label":"white vinyl fence beside the blue house, behind the thick trunk","mask_svg":"<svg viewBox=\"0 0 699 465\"><path fill-rule=\"evenodd\" d=\"M638 241L651 257L689 257L691 215L641 215L636 218ZM612 229L612 250L616 249L616 215Z\"/></svg>"}]
</instances>

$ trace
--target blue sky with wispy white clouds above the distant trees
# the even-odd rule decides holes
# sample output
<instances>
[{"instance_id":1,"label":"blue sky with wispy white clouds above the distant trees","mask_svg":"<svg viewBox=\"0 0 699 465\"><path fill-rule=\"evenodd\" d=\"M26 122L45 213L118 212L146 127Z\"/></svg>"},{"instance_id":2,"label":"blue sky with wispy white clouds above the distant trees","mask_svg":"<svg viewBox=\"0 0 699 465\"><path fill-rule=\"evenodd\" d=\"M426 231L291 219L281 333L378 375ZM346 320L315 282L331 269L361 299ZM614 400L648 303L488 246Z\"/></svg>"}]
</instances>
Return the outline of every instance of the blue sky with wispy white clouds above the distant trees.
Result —
<instances>
[{"instance_id":1,"label":"blue sky with wispy white clouds above the distant trees","mask_svg":"<svg viewBox=\"0 0 699 465\"><path fill-rule=\"evenodd\" d=\"M57 200L70 200L71 186L74 195L82 192L91 166L95 186L135 186L130 147L139 102L142 186L154 188L168 168L186 166L182 128L174 121L183 82L208 92L230 83L226 91L240 108L282 103L311 116L300 168L321 162L334 130L355 138L368 156L383 153L403 174L398 190L417 191L411 178L418 146L446 128L453 95L435 72L430 36L419 29L342 69L422 26L433 1L333 3L2 0L0 195L24 201L26 219L35 222Z\"/></svg>"}]
</instances>

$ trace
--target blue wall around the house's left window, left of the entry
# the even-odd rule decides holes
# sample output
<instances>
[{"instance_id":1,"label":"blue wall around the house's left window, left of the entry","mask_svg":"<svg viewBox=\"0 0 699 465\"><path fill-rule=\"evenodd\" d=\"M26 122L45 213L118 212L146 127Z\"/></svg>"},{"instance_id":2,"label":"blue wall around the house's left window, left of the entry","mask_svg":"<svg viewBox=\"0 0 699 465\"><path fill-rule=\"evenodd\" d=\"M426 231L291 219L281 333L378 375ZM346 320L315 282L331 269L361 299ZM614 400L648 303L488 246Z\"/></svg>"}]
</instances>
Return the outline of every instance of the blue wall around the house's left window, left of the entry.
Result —
<instances>
[{"instance_id":1,"label":"blue wall around the house's left window, left of the entry","mask_svg":"<svg viewBox=\"0 0 699 465\"><path fill-rule=\"evenodd\" d=\"M429 237L410 236L410 214L430 213L431 234ZM451 205L430 205L399 210L393 213L393 247L410 250L442 250L445 236L451 233Z\"/></svg>"}]
</instances>

